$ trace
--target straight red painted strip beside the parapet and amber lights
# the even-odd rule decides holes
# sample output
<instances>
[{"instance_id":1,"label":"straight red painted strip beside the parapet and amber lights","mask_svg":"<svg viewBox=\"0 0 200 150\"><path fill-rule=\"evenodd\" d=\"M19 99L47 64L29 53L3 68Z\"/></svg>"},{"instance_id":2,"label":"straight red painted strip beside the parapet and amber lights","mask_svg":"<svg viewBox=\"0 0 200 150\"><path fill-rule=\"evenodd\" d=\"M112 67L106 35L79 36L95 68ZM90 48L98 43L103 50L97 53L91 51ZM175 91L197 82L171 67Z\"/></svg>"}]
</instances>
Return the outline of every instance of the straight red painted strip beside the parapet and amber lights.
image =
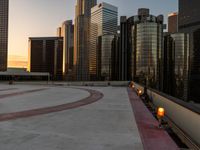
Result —
<instances>
[{"instance_id":1,"label":"straight red painted strip beside the parapet and amber lights","mask_svg":"<svg viewBox=\"0 0 200 150\"><path fill-rule=\"evenodd\" d=\"M136 93L128 89L128 95L144 150L178 150L178 146L168 133L158 128L157 120Z\"/></svg>"}]
</instances>

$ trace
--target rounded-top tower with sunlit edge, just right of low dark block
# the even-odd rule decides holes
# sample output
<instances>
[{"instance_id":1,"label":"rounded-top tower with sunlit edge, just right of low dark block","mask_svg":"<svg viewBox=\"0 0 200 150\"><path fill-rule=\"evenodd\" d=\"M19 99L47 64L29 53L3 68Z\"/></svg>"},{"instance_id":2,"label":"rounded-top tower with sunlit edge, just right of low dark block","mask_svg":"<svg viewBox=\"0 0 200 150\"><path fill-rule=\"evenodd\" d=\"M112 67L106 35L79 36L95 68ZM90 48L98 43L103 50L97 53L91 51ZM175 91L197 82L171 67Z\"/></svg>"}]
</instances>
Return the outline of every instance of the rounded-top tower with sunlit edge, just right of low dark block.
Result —
<instances>
[{"instance_id":1,"label":"rounded-top tower with sunlit edge, just right of low dark block","mask_svg":"<svg viewBox=\"0 0 200 150\"><path fill-rule=\"evenodd\" d=\"M63 72L66 80L73 80L74 25L72 20L63 22L61 37L63 37Z\"/></svg>"}]
</instances>

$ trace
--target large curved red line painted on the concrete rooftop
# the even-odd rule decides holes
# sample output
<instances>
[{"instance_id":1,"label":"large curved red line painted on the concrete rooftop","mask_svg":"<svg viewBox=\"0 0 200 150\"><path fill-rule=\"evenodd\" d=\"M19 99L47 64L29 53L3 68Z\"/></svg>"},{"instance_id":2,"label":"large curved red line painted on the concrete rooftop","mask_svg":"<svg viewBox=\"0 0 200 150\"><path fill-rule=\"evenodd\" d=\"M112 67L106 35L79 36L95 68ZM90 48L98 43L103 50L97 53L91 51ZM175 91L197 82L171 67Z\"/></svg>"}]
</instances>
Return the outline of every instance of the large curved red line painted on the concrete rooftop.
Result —
<instances>
[{"instance_id":1,"label":"large curved red line painted on the concrete rooftop","mask_svg":"<svg viewBox=\"0 0 200 150\"><path fill-rule=\"evenodd\" d=\"M80 88L76 88L76 89L80 89ZM84 105L89 105L91 103L94 103L103 97L103 94L98 91L89 90L89 89L80 89L80 90L85 90L85 91L89 92L90 96L87 98L84 98L80 101L72 102L72 103L68 103L68 104L27 110L27 111L21 111L21 112L0 114L0 121L15 120L15 119L19 119L19 118L28 118L28 117L33 117L33 116L44 115L44 114L48 114L48 113L78 108L78 107L81 107Z\"/></svg>"}]
</instances>

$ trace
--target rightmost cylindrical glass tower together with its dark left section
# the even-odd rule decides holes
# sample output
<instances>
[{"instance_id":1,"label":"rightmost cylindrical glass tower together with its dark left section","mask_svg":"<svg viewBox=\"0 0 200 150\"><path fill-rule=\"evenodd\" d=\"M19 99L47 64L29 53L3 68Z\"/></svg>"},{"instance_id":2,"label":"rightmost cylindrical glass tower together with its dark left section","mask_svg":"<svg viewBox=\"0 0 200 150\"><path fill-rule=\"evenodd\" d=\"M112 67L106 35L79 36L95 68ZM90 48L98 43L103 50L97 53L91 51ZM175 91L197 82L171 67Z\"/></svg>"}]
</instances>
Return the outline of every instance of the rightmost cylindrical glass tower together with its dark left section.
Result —
<instances>
[{"instance_id":1,"label":"rightmost cylindrical glass tower together with its dark left section","mask_svg":"<svg viewBox=\"0 0 200 150\"><path fill-rule=\"evenodd\" d=\"M189 34L164 36L164 92L188 100Z\"/></svg>"}]
</instances>

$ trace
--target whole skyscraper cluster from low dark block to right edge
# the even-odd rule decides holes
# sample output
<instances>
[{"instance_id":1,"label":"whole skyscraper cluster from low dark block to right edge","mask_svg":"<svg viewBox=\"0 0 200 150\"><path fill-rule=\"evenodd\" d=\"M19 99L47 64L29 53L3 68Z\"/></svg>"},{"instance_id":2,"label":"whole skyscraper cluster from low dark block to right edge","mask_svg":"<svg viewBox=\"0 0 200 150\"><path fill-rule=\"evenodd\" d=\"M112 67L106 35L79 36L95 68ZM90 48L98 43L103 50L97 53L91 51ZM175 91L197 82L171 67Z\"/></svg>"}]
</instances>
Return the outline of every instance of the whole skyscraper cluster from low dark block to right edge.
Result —
<instances>
[{"instance_id":1,"label":"whole skyscraper cluster from low dark block to right edge","mask_svg":"<svg viewBox=\"0 0 200 150\"><path fill-rule=\"evenodd\" d=\"M120 17L118 8L77 0L74 24L65 21L57 37L29 38L29 70L67 81L134 80L174 97L200 97L200 2L179 0L168 16L147 8ZM49 60L51 59L51 60Z\"/></svg>"}]
</instances>

